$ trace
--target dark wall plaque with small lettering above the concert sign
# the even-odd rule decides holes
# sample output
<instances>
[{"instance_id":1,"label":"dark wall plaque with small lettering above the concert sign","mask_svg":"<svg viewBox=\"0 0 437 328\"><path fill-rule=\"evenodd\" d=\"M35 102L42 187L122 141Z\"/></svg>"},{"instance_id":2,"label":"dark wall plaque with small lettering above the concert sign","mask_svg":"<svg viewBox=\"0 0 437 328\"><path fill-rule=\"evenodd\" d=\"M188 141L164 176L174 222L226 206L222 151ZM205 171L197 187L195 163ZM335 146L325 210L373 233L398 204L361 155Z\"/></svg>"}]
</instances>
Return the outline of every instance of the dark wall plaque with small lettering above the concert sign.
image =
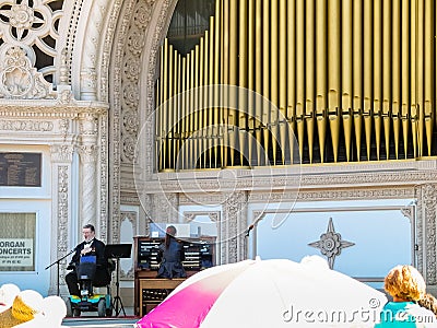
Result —
<instances>
[{"instance_id":1,"label":"dark wall plaque with small lettering above the concert sign","mask_svg":"<svg viewBox=\"0 0 437 328\"><path fill-rule=\"evenodd\" d=\"M40 153L0 153L0 186L40 187Z\"/></svg>"}]
</instances>

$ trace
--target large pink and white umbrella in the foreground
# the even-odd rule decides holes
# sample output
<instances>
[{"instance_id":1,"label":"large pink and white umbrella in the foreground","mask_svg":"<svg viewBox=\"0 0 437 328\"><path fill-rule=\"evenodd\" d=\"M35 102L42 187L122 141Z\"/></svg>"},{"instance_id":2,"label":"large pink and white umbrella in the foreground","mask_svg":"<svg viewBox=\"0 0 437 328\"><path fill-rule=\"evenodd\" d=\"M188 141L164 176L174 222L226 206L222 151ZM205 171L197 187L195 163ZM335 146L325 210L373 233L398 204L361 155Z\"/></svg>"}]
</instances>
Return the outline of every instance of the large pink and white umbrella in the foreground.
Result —
<instances>
[{"instance_id":1,"label":"large pink and white umbrella in the foreground","mask_svg":"<svg viewBox=\"0 0 437 328\"><path fill-rule=\"evenodd\" d=\"M373 327L386 302L320 257L244 260L190 277L137 327Z\"/></svg>"}]
</instances>

